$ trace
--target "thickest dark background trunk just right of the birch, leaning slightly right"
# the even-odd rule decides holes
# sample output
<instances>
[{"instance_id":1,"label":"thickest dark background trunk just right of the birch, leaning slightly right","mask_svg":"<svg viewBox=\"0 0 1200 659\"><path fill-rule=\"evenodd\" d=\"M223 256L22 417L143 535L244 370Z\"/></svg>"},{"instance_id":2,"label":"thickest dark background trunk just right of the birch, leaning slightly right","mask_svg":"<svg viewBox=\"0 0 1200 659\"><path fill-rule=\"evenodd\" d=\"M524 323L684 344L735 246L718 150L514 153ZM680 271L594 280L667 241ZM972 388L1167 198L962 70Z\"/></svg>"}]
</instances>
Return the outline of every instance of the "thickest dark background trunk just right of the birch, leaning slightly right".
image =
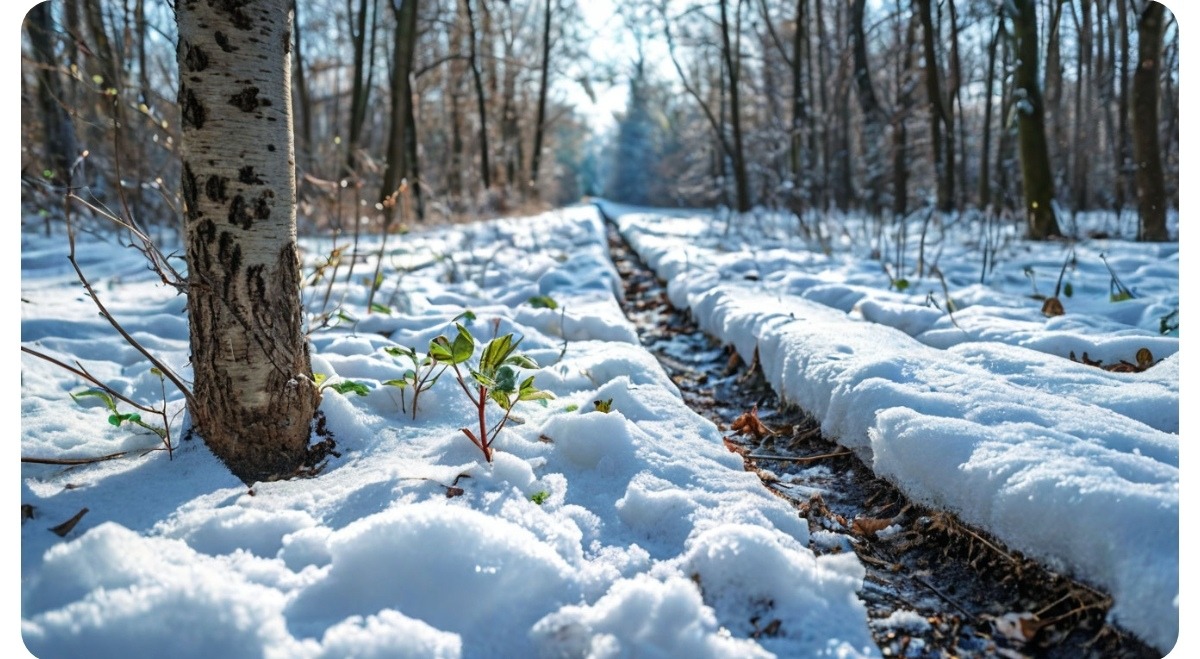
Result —
<instances>
[{"instance_id":1,"label":"thickest dark background trunk just right of the birch, leaning slightly right","mask_svg":"<svg viewBox=\"0 0 1200 659\"><path fill-rule=\"evenodd\" d=\"M392 4L396 14L396 36L394 37L391 64L391 131L388 137L388 163L383 170L383 185L379 198L383 203L383 226L386 232L395 218L400 204L400 192L412 173L409 162L409 114L413 112L413 90L409 83L413 72L413 52L416 46L416 5L418 0L401 0ZM408 180L407 185L413 181Z\"/></svg>"}]
</instances>

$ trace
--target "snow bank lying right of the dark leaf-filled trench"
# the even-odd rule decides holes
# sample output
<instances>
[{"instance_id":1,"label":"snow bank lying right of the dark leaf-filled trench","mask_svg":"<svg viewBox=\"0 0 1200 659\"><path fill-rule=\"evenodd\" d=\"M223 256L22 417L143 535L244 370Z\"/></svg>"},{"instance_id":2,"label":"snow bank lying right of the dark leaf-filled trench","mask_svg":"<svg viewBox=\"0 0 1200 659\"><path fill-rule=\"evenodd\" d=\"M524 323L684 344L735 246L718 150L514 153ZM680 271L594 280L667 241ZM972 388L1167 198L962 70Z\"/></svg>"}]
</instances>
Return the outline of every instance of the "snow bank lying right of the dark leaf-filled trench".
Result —
<instances>
[{"instance_id":1,"label":"snow bank lying right of the dark leaf-filled trench","mask_svg":"<svg viewBox=\"0 0 1200 659\"><path fill-rule=\"evenodd\" d=\"M755 253L698 232L688 239L696 220L610 212L668 281L672 302L744 359L757 351L772 387L816 415L827 437L914 501L1111 593L1116 623L1159 648L1174 645L1178 437L1168 430L1177 429L1177 339L1096 324L1007 335L1108 360L1150 347L1168 359L1146 375L1084 371L970 329L938 349L910 334L928 335L930 312L949 323L946 314L863 286L816 284L827 265L820 254ZM872 294L892 299L888 313L859 304ZM864 307L889 324L846 313ZM1141 420L1121 413L1132 408Z\"/></svg>"}]
</instances>

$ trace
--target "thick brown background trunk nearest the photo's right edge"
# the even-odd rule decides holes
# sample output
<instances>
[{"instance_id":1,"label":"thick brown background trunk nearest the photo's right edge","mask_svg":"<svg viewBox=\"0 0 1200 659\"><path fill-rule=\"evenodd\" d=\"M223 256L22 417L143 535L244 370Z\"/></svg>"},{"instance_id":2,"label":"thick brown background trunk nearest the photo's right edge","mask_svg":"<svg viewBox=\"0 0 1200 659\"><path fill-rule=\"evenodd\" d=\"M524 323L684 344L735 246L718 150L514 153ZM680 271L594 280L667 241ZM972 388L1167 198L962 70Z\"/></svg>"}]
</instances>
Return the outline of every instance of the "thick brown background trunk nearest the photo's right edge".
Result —
<instances>
[{"instance_id":1,"label":"thick brown background trunk nearest the photo's right edge","mask_svg":"<svg viewBox=\"0 0 1200 659\"><path fill-rule=\"evenodd\" d=\"M1163 56L1165 11L1147 2L1138 16L1138 68L1133 73L1129 121L1133 125L1134 180L1141 214L1140 240L1169 240L1166 234L1166 186L1158 140L1158 74Z\"/></svg>"}]
</instances>

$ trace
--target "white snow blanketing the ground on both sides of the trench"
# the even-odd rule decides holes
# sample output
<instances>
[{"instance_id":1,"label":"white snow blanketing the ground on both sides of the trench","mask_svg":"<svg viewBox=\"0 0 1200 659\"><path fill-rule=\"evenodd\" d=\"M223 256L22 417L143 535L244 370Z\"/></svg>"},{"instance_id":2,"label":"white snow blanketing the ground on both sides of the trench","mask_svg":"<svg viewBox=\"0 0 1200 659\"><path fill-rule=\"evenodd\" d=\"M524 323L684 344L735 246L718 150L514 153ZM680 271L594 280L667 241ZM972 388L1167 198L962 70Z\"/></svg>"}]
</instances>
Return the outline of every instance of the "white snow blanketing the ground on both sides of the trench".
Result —
<instances>
[{"instance_id":1,"label":"white snow blanketing the ground on both sides of the trench","mask_svg":"<svg viewBox=\"0 0 1200 659\"><path fill-rule=\"evenodd\" d=\"M824 256L769 218L725 230L607 210L673 302L743 354L757 346L773 385L829 437L923 503L1112 593L1116 623L1170 649L1180 358L1177 335L1158 330L1178 307L1176 245L1075 245L1067 313L1048 319L1022 272L1052 292L1064 245L1010 241L979 284L964 233L935 232L952 318L937 278L908 274L916 238L904 270L892 258L910 280L898 293L863 241ZM305 247L311 274L332 246ZM1110 301L1100 252L1135 298ZM160 378L96 314L65 254L61 236L22 236L23 345L158 405ZM79 257L126 329L188 375L184 299L133 250L82 235ZM168 459L145 453L156 435L112 426L100 399L73 401L80 378L23 354L22 455L130 451L22 468L34 514L22 636L36 655L880 655L857 558L815 556L806 522L638 346L594 209L392 238L368 314L373 271L373 258L353 276L343 264L328 305L324 281L305 289L312 313L343 312L312 334L342 457L253 495L199 439L178 441L178 391L166 388ZM514 408L491 465L460 431L475 411L452 376L421 394L415 419L412 393L386 384L410 366L388 348L424 353L456 318L481 340L523 336L541 369L522 376L554 395ZM1135 363L1141 348L1160 360L1142 373L1067 359ZM365 395L335 389L352 382ZM64 538L48 531L84 508ZM767 619L778 634L757 634Z\"/></svg>"}]
</instances>

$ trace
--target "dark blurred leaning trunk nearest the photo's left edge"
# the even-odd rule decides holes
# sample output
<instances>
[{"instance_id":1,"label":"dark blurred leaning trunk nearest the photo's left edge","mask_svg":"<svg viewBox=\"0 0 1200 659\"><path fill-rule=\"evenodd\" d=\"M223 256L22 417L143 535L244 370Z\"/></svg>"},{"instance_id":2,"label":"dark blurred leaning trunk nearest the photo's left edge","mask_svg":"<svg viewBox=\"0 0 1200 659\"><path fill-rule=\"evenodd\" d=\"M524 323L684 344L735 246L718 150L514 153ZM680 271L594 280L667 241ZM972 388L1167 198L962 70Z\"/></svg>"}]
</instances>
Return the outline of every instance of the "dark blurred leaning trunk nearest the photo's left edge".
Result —
<instances>
[{"instance_id":1,"label":"dark blurred leaning trunk nearest the photo's left edge","mask_svg":"<svg viewBox=\"0 0 1200 659\"><path fill-rule=\"evenodd\" d=\"M37 64L37 110L42 124L42 160L35 175L56 186L71 185L71 164L78 154L74 126L62 106L62 82L54 54L54 20L50 4L42 2L29 10L25 20L29 44ZM22 120L28 124L28 120Z\"/></svg>"}]
</instances>

